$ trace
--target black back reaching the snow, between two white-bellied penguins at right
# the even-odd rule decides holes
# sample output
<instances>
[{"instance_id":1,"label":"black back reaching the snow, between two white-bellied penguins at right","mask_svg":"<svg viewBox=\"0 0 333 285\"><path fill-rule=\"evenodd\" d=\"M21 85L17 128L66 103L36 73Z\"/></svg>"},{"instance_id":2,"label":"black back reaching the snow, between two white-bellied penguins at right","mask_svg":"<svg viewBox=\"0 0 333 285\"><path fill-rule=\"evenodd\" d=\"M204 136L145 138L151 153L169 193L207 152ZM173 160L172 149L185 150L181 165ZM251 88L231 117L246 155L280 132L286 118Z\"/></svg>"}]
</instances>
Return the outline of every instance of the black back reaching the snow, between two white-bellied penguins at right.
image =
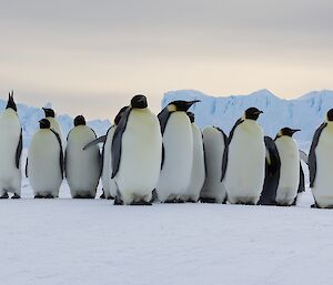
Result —
<instances>
[{"instance_id":1,"label":"black back reaching the snow, between two white-bellied penguins at right","mask_svg":"<svg viewBox=\"0 0 333 285\"><path fill-rule=\"evenodd\" d=\"M265 162L265 179L259 205L276 205L276 190L280 180L281 160L274 140L264 136L264 143L269 157Z\"/></svg>"}]
</instances>

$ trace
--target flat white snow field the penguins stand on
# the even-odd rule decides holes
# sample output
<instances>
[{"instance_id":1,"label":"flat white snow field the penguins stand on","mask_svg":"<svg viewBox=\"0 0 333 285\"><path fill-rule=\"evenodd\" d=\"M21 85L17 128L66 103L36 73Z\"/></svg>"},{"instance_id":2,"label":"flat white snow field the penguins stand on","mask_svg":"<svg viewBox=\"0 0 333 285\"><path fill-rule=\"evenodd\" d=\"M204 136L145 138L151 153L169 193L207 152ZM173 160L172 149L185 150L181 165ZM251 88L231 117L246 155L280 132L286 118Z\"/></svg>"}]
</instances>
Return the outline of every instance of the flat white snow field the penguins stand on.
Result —
<instances>
[{"instance_id":1,"label":"flat white snow field the penguins stand on","mask_svg":"<svg viewBox=\"0 0 333 285\"><path fill-rule=\"evenodd\" d=\"M0 201L4 285L331 284L333 212L221 204ZM99 193L100 194L100 193Z\"/></svg>"}]
</instances>

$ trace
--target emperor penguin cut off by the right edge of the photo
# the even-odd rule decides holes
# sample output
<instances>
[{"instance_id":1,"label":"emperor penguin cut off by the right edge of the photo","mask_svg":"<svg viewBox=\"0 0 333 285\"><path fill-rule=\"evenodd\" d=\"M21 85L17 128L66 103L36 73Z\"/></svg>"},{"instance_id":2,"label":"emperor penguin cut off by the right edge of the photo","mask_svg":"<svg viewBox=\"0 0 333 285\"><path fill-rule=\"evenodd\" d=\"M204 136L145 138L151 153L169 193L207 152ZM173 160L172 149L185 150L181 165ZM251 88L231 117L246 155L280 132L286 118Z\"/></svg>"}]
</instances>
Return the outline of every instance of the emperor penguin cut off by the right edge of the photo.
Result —
<instances>
[{"instance_id":1,"label":"emperor penguin cut off by the right edge of the photo","mask_svg":"<svg viewBox=\"0 0 333 285\"><path fill-rule=\"evenodd\" d=\"M315 131L309 153L310 187L316 207L333 207L333 109Z\"/></svg>"}]
</instances>

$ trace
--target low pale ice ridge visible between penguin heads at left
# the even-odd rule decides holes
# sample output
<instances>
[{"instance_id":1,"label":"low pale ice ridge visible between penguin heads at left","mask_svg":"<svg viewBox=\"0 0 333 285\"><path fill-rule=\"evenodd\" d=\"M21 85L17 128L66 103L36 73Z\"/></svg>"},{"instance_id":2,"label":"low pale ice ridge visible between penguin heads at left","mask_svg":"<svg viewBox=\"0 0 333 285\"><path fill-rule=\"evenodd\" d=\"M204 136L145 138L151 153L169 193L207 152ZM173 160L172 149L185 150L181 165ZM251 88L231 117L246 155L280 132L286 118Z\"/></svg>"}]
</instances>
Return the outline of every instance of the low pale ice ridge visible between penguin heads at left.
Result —
<instances>
[{"instance_id":1,"label":"low pale ice ridge visible between penguin heads at left","mask_svg":"<svg viewBox=\"0 0 333 285\"><path fill-rule=\"evenodd\" d=\"M0 112L6 108L7 101L0 100ZM24 104L17 104L18 113L22 125L23 131L23 144L29 146L31 138L36 130L39 128L38 121L44 118L44 112L40 108L29 106ZM48 103L46 106L52 108L51 103ZM54 110L57 113L57 109ZM57 116L59 123L62 126L64 139L68 135L68 132L73 128L73 118L62 114ZM103 135L107 133L107 130L110 128L110 122L108 120L93 120L87 122L87 124L92 128L97 135Z\"/></svg>"}]
</instances>

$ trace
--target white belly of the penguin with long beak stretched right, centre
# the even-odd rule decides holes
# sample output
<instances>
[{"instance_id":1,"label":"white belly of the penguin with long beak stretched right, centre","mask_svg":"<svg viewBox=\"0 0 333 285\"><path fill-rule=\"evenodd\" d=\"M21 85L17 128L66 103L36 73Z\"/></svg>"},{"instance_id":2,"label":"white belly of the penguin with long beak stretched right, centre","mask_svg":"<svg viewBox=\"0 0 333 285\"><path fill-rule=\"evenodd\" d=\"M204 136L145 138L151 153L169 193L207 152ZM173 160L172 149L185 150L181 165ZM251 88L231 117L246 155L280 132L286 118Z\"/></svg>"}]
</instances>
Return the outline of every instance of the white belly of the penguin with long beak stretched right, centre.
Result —
<instances>
[{"instance_id":1,"label":"white belly of the penguin with long beak stretched right, centre","mask_svg":"<svg viewBox=\"0 0 333 285\"><path fill-rule=\"evenodd\" d=\"M170 115L163 134L164 165L157 193L161 202L179 199L186 193L191 180L193 139L185 112Z\"/></svg>"}]
</instances>

